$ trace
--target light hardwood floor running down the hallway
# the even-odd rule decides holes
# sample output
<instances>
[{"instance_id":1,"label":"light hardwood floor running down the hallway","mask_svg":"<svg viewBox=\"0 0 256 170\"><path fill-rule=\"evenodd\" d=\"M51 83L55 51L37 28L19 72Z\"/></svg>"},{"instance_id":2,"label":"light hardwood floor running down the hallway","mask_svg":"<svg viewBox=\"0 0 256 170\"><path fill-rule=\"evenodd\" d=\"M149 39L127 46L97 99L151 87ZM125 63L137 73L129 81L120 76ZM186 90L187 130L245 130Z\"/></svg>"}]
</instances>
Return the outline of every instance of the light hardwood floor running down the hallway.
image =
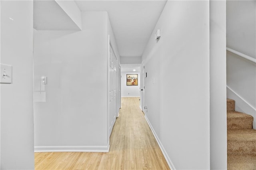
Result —
<instances>
[{"instance_id":1,"label":"light hardwood floor running down the hallway","mask_svg":"<svg viewBox=\"0 0 256 170\"><path fill-rule=\"evenodd\" d=\"M109 152L38 152L36 170L170 169L142 111L138 97L122 98Z\"/></svg>"}]
</instances>

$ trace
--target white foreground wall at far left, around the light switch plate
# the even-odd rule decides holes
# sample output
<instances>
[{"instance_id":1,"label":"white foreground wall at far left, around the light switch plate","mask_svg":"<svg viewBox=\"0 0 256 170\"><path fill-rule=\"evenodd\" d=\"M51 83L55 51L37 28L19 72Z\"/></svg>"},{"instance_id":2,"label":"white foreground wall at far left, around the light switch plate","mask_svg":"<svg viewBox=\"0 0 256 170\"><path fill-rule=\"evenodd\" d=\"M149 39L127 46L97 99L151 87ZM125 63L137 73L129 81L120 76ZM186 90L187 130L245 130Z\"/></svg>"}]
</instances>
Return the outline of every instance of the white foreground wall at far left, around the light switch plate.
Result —
<instances>
[{"instance_id":1,"label":"white foreground wall at far left, around the light switch plate","mask_svg":"<svg viewBox=\"0 0 256 170\"><path fill-rule=\"evenodd\" d=\"M1 63L12 84L1 88L1 169L34 169L33 1L1 1Z\"/></svg>"}]
</instances>

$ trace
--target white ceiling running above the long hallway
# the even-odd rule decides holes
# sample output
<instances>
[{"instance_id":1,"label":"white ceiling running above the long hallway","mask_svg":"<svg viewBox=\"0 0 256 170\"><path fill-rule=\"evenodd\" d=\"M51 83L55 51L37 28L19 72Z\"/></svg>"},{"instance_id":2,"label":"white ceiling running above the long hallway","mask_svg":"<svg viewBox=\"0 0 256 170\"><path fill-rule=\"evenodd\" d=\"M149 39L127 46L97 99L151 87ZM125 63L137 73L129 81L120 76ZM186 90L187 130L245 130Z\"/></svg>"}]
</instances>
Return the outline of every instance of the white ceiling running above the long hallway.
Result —
<instances>
[{"instance_id":1,"label":"white ceiling running above the long hallway","mask_svg":"<svg viewBox=\"0 0 256 170\"><path fill-rule=\"evenodd\" d=\"M167 0L75 0L81 11L107 11L121 57L141 57Z\"/></svg>"}]
</instances>

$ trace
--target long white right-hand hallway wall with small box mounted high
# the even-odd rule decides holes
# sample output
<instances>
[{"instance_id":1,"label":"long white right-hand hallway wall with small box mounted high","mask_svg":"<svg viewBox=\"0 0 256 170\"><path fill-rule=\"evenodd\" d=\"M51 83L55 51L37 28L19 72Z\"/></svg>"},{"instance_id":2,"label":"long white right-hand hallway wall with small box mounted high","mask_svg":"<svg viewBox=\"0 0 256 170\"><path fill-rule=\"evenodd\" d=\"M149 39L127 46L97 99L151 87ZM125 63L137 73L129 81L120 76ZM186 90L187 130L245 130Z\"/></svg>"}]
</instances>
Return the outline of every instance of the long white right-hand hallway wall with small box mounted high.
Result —
<instances>
[{"instance_id":1,"label":"long white right-hand hallway wall with small box mounted high","mask_svg":"<svg viewBox=\"0 0 256 170\"><path fill-rule=\"evenodd\" d=\"M145 115L172 169L210 169L209 23L208 1L168 1L142 55Z\"/></svg>"}]
</instances>

